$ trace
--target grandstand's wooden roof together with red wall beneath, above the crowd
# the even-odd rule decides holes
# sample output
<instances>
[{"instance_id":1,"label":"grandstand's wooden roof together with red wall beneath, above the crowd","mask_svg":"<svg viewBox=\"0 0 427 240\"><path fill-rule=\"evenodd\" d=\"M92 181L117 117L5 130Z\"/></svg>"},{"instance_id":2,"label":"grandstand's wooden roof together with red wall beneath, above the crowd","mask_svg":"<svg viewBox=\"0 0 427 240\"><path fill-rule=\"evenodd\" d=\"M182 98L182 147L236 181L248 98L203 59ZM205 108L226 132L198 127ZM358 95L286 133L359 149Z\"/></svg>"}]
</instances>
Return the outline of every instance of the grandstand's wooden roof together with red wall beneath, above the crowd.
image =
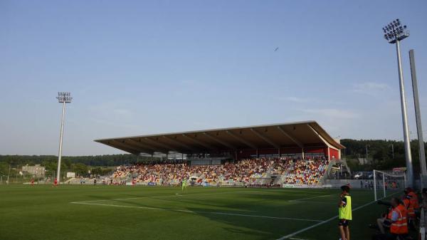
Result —
<instances>
[{"instance_id":1,"label":"grandstand's wooden roof together with red wall beneath, above the crowd","mask_svg":"<svg viewBox=\"0 0 427 240\"><path fill-rule=\"evenodd\" d=\"M339 159L344 148L315 121L116 137L95 142L135 155L179 152L191 160L206 158L202 156L240 160L260 155L320 156L332 160Z\"/></svg>"}]
</instances>

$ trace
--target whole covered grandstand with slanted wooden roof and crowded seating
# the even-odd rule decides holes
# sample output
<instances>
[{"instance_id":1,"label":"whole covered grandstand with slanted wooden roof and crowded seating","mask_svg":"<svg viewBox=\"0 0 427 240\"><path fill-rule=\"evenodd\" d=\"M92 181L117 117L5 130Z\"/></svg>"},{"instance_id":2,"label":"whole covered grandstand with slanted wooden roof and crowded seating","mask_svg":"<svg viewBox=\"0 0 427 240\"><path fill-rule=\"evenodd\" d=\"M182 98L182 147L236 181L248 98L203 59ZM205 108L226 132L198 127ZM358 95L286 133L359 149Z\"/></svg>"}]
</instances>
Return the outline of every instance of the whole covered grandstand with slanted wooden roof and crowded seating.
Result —
<instances>
[{"instance_id":1,"label":"whole covered grandstand with slanted wooden roof and crowded seating","mask_svg":"<svg viewBox=\"0 0 427 240\"><path fill-rule=\"evenodd\" d=\"M341 162L340 145L315 121L95 140L135 155L162 156L120 166L110 183L315 187ZM347 165L346 165L347 166Z\"/></svg>"}]
</instances>

